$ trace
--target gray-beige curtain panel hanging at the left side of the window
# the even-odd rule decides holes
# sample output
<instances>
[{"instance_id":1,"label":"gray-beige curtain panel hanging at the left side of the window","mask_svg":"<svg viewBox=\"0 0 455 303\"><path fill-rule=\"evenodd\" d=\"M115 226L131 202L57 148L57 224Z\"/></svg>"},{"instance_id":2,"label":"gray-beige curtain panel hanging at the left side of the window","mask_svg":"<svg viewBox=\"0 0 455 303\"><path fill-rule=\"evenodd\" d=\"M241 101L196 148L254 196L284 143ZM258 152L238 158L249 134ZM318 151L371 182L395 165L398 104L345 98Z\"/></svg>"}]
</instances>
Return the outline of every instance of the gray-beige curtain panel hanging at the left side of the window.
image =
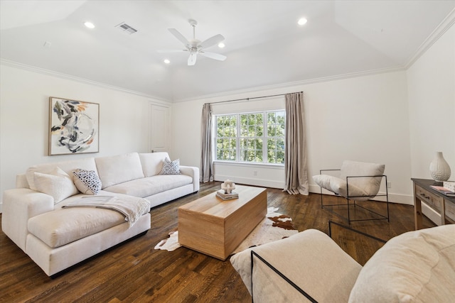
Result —
<instances>
[{"instance_id":1,"label":"gray-beige curtain panel hanging at the left side of the window","mask_svg":"<svg viewBox=\"0 0 455 303\"><path fill-rule=\"evenodd\" d=\"M212 108L204 104L200 123L200 182L213 181L212 159Z\"/></svg>"}]
</instances>

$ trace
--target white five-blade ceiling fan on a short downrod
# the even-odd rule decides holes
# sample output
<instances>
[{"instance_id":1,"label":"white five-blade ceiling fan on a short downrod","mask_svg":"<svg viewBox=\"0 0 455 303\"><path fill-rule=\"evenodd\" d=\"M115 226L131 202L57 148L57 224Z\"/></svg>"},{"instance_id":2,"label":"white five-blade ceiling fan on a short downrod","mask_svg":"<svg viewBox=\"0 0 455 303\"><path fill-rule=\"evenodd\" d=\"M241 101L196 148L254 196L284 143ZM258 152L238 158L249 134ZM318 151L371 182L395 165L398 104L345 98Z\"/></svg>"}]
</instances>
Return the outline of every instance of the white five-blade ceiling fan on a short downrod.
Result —
<instances>
[{"instance_id":1,"label":"white five-blade ceiling fan on a short downrod","mask_svg":"<svg viewBox=\"0 0 455 303\"><path fill-rule=\"evenodd\" d=\"M200 42L200 40L196 39L196 26L198 25L198 22L196 20L190 19L189 23L191 26L193 26L193 39L187 40L179 31L177 31L175 28L168 28L168 31L171 32L174 37L176 37L178 40L180 40L183 45L185 45L185 48L183 50L158 50L159 53L181 53L181 52L189 52L190 57L188 57L188 65L195 65L196 64L196 57L198 54L203 55L205 57L209 57L210 59L215 59L219 61L224 61L226 60L225 55L220 55L217 53L210 53L206 52L205 48L210 48L210 46L213 46L215 44L220 43L221 41L225 40L223 35L214 35L211 38L208 38L207 40L204 40L203 42Z\"/></svg>"}]
</instances>

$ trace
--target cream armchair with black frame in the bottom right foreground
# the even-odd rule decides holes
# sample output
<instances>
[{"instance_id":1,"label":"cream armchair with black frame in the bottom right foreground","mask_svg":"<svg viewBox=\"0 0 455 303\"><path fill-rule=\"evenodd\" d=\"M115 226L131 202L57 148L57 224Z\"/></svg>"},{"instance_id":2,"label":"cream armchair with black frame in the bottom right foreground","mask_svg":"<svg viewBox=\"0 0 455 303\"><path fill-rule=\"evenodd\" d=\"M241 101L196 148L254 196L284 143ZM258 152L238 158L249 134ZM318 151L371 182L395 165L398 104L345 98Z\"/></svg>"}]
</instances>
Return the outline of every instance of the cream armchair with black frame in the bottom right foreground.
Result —
<instances>
[{"instance_id":1,"label":"cream armchair with black frame in the bottom right foreground","mask_svg":"<svg viewBox=\"0 0 455 303\"><path fill-rule=\"evenodd\" d=\"M253 302L454 302L455 224L402 233L362 267L308 229L230 258Z\"/></svg>"}]
</instances>

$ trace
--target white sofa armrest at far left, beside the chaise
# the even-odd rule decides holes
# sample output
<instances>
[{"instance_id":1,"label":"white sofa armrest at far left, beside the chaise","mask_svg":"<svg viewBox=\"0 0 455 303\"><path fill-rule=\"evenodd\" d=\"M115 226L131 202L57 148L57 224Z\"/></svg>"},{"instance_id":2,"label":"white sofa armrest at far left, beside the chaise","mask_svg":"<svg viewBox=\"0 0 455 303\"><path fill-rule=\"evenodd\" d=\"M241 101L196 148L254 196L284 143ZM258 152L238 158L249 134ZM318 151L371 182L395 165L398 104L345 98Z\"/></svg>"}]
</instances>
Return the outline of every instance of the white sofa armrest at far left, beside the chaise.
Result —
<instances>
[{"instance_id":1,"label":"white sofa armrest at far left, beside the chaise","mask_svg":"<svg viewBox=\"0 0 455 303\"><path fill-rule=\"evenodd\" d=\"M48 194L27 188L7 189L3 196L1 229L25 252L28 219L53 209L54 199Z\"/></svg>"}]
</instances>

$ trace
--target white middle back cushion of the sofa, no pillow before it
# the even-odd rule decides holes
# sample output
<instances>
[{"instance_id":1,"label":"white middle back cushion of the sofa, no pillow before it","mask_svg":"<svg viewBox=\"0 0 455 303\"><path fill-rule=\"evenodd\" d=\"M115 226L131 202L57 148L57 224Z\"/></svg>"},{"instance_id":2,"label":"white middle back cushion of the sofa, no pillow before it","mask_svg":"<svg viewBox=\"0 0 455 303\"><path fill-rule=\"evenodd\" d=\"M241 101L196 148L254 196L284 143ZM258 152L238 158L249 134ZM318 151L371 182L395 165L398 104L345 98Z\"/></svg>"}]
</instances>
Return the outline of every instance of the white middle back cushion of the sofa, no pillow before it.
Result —
<instances>
[{"instance_id":1,"label":"white middle back cushion of the sofa, no pillow before it","mask_svg":"<svg viewBox=\"0 0 455 303\"><path fill-rule=\"evenodd\" d=\"M96 158L102 188L144 177L138 153Z\"/></svg>"}]
</instances>

